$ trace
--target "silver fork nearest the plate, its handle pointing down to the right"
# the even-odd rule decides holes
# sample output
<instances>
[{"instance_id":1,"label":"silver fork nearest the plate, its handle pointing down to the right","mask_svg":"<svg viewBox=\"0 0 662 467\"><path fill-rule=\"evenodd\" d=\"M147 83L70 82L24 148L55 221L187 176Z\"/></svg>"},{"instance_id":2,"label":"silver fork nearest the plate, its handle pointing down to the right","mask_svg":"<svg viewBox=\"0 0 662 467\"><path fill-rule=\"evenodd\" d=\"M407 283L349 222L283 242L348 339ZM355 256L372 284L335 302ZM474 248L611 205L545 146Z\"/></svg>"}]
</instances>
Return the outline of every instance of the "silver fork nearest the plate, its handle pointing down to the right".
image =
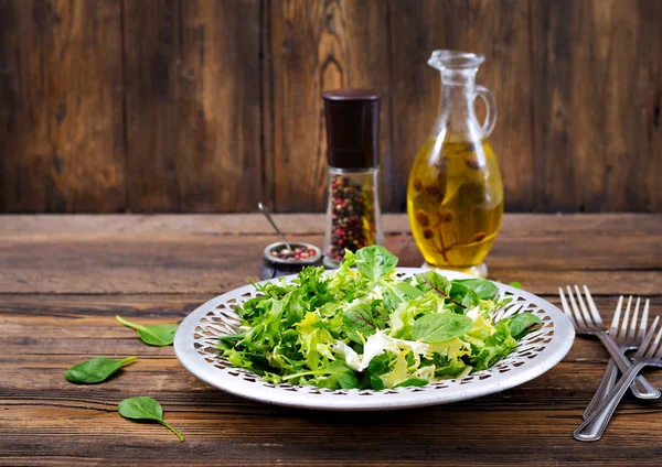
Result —
<instances>
[{"instance_id":1,"label":"silver fork nearest the plate, its handle pointing down to the right","mask_svg":"<svg viewBox=\"0 0 662 467\"><path fill-rule=\"evenodd\" d=\"M563 305L563 311L570 318L573 326L575 326L575 330L577 334L585 334L589 336L596 336L611 358L613 362L618 367L621 373L628 371L630 368L630 360L626 357L618 345L613 341L613 339L609 336L609 334L605 330L605 325L602 324L602 318L598 313L598 308L595 306L595 302L592 297L590 298L590 313L586 308L586 304L584 303L584 298L581 297L581 292L579 287L575 285L575 291L577 292L577 301L579 302L579 306L577 306L577 302L575 302L575 296L573 295L573 290L570 286L567 286L568 298L570 300L572 308L568 306L566 302L565 295L562 289L558 289L558 294L560 295L560 304ZM587 296L590 296L590 292L586 285L584 285L584 291ZM581 311L579 311L581 308ZM570 311L572 309L572 311ZM638 377L634 383L632 384L632 394L639 399L659 399L660 391L658 391L650 382L647 381L643 377Z\"/></svg>"}]
</instances>

